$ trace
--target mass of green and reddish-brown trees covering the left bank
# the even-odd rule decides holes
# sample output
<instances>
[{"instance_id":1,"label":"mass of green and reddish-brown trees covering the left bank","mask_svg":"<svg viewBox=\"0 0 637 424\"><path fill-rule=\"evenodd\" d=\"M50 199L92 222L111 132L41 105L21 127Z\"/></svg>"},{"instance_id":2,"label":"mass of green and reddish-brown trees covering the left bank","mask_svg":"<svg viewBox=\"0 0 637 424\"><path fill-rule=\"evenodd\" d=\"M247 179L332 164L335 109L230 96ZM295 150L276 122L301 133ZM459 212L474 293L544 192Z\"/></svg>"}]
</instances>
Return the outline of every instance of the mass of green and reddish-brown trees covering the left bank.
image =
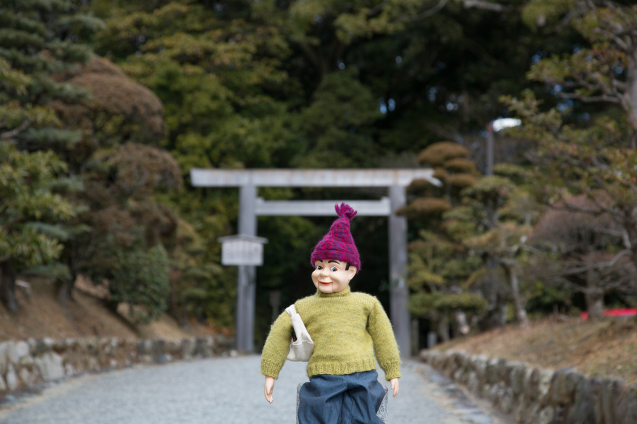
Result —
<instances>
[{"instance_id":1,"label":"mass of green and reddish-brown trees covering the left bank","mask_svg":"<svg viewBox=\"0 0 637 424\"><path fill-rule=\"evenodd\" d=\"M84 274L110 280L109 302L156 314L169 294L163 279L146 284L153 297L122 296L121 287L139 280L127 253L143 256L174 232L174 214L152 197L181 185L179 168L168 153L135 144L163 135L161 103L93 56L86 42L104 24L74 2L4 3L1 14L7 306L18 307L16 273L50 277L63 301ZM166 255L155 259L168 266Z\"/></svg>"}]
</instances>

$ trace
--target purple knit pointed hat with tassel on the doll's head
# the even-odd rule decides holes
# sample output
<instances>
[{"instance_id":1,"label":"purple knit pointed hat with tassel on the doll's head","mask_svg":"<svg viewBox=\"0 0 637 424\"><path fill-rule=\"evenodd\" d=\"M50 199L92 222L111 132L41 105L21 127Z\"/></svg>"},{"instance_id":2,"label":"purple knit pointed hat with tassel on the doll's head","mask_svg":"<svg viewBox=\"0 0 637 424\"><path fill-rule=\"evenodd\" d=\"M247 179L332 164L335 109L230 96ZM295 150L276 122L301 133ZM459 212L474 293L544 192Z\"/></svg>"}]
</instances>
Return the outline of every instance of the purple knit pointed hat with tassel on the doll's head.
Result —
<instances>
[{"instance_id":1,"label":"purple knit pointed hat with tassel on the doll's head","mask_svg":"<svg viewBox=\"0 0 637 424\"><path fill-rule=\"evenodd\" d=\"M350 205L341 203L334 206L338 219L330 227L330 231L319 241L310 259L312 266L316 261L337 259L356 267L356 273L361 270L361 259L354 244L352 233L349 231L349 221L356 216L356 211Z\"/></svg>"}]
</instances>

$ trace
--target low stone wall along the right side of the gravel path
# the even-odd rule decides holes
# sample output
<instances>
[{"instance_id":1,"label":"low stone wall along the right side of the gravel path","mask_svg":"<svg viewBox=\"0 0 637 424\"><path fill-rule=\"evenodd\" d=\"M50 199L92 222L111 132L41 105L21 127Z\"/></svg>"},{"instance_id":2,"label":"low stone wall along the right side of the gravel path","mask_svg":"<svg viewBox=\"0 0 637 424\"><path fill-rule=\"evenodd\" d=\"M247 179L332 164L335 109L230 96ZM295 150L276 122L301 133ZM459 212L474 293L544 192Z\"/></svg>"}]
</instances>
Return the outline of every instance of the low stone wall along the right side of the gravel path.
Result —
<instances>
[{"instance_id":1,"label":"low stone wall along the right side of the gravel path","mask_svg":"<svg viewBox=\"0 0 637 424\"><path fill-rule=\"evenodd\" d=\"M637 424L637 386L464 352L423 350L420 359L524 424Z\"/></svg>"}]
</instances>

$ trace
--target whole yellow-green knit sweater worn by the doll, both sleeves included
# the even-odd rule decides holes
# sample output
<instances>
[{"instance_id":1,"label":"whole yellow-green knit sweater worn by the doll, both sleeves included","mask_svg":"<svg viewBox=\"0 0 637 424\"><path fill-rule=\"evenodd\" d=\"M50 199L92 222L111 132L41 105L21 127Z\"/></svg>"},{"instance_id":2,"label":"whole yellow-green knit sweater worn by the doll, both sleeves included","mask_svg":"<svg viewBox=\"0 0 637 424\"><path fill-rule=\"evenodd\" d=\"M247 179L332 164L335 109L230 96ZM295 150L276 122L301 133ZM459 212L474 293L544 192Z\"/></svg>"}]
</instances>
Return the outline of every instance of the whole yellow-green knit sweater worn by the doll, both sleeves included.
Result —
<instances>
[{"instance_id":1,"label":"whole yellow-green knit sweater worn by the doll, both sleeves included","mask_svg":"<svg viewBox=\"0 0 637 424\"><path fill-rule=\"evenodd\" d=\"M345 375L376 369L376 359L385 378L400 377L400 356L394 332L378 299L365 293L322 293L294 303L314 341L307 376ZM279 378L294 329L283 312L272 325L261 356L261 373ZM374 359L376 353L376 359Z\"/></svg>"}]
</instances>

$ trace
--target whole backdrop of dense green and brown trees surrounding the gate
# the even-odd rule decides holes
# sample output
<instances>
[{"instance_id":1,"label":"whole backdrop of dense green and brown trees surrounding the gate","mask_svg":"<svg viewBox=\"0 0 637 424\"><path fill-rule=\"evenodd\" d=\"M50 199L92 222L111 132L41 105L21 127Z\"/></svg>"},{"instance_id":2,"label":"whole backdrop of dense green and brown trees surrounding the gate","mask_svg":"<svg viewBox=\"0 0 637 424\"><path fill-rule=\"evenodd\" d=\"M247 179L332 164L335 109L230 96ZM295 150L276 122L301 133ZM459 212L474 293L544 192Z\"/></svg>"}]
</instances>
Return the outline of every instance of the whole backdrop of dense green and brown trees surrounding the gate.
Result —
<instances>
[{"instance_id":1,"label":"whole backdrop of dense green and brown trees surrounding the gate","mask_svg":"<svg viewBox=\"0 0 637 424\"><path fill-rule=\"evenodd\" d=\"M414 181L401 211L420 345L634 306L636 31L627 0L4 2L4 305L20 308L18 275L48 278L62 304L85 276L138 322L168 311L231 329L217 238L236 232L237 192L190 187L191 168L423 166L442 186ZM282 305L314 291L309 254L330 223L259 218L257 344L271 291ZM387 231L352 222L353 288L386 308Z\"/></svg>"}]
</instances>

